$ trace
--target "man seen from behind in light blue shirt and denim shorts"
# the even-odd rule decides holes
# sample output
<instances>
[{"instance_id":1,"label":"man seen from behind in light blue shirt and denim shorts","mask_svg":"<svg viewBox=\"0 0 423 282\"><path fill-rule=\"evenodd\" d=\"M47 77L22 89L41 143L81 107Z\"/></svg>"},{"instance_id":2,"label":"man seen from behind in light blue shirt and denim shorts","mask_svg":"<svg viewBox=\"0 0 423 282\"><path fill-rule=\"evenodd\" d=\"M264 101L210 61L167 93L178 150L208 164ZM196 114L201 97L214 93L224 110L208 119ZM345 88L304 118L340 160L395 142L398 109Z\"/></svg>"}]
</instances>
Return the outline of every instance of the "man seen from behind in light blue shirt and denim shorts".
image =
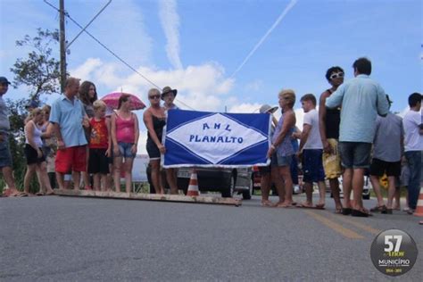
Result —
<instances>
[{"instance_id":1,"label":"man seen from behind in light blue shirt and denim shorts","mask_svg":"<svg viewBox=\"0 0 423 282\"><path fill-rule=\"evenodd\" d=\"M344 167L344 215L367 217L361 200L364 171L369 168L369 156L376 129L376 117L386 116L389 104L385 91L373 79L371 62L359 58L353 64L354 79L336 89L326 101L328 108L342 106L339 129L339 153ZM350 201L354 191L353 206Z\"/></svg>"}]
</instances>

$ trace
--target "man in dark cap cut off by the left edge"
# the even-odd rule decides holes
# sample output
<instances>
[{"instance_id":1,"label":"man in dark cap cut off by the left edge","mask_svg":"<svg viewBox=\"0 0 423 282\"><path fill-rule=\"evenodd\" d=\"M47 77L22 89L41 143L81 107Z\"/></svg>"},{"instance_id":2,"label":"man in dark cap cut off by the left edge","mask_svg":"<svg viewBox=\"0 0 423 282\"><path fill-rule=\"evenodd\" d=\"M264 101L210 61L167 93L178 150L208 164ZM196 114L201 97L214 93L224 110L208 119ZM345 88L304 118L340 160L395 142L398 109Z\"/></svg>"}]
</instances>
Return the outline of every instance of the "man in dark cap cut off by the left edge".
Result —
<instances>
[{"instance_id":1,"label":"man in dark cap cut off by the left edge","mask_svg":"<svg viewBox=\"0 0 423 282\"><path fill-rule=\"evenodd\" d=\"M0 77L0 169L2 170L4 182L9 187L4 191L4 196L19 195L16 189L12 174L12 154L9 147L9 131L11 124L7 116L7 107L3 95L6 94L11 83L4 77Z\"/></svg>"}]
</instances>

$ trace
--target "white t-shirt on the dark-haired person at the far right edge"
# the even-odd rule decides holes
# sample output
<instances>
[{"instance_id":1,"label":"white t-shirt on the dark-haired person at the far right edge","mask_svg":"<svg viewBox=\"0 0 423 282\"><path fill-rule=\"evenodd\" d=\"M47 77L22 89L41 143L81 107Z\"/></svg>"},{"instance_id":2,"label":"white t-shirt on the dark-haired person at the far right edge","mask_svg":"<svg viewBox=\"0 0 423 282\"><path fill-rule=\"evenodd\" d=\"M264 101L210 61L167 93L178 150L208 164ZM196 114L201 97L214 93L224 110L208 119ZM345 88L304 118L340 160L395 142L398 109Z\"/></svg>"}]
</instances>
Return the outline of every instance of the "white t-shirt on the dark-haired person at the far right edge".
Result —
<instances>
[{"instance_id":1,"label":"white t-shirt on the dark-haired person at the far right edge","mask_svg":"<svg viewBox=\"0 0 423 282\"><path fill-rule=\"evenodd\" d=\"M405 152L423 150L423 135L419 134L419 125L421 123L421 112L410 110L409 112L405 113L404 118L402 119L405 132Z\"/></svg>"}]
</instances>

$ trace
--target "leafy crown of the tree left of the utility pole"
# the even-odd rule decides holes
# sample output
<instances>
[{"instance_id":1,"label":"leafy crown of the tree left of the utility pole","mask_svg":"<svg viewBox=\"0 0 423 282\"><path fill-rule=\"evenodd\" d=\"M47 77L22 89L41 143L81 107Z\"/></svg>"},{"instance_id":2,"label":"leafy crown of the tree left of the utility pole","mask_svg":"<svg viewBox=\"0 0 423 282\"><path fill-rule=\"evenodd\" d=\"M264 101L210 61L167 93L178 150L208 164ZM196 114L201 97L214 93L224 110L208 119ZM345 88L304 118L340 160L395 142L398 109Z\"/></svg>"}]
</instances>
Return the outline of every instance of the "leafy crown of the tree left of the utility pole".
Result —
<instances>
[{"instance_id":1,"label":"leafy crown of the tree left of the utility pole","mask_svg":"<svg viewBox=\"0 0 423 282\"><path fill-rule=\"evenodd\" d=\"M40 95L60 93L60 61L53 54L52 44L58 45L59 30L37 29L37 36L26 35L16 46L32 47L27 58L19 58L10 69L14 73L13 87L29 87L29 99L39 101Z\"/></svg>"}]
</instances>

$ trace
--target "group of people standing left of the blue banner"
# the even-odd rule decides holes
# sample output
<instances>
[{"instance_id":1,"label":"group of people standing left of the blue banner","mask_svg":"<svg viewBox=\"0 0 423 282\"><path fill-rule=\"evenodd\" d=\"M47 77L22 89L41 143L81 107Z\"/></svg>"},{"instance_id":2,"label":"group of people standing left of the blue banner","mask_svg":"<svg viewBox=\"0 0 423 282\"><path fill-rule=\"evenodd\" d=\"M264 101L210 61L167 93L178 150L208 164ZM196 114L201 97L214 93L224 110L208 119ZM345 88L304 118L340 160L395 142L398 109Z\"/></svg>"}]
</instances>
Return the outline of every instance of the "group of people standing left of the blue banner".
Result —
<instances>
[{"instance_id":1,"label":"group of people standing left of the blue banner","mask_svg":"<svg viewBox=\"0 0 423 282\"><path fill-rule=\"evenodd\" d=\"M79 85L79 79L72 77L66 79L63 95L51 106L40 109L31 102L27 107L29 116L24 121L27 170L23 192L18 191L8 142L10 122L3 99L9 85L6 78L0 78L0 168L8 187L4 196L30 195L30 182L35 175L39 183L37 195L53 195L56 183L59 189L69 189L70 180L75 190L83 183L86 190L109 191L113 187L120 192L122 177L125 191L131 191L139 138L137 115L131 111L131 95L120 95L117 109L112 109L97 99L94 83L84 81ZM170 87L164 87L162 92L151 89L148 92L151 105L144 113L148 129L146 149L158 194L164 193L164 181L160 178L160 157L165 152L162 129L167 111L177 109L173 104L175 95L177 90ZM175 171L166 174L170 192L178 194Z\"/></svg>"}]
</instances>

